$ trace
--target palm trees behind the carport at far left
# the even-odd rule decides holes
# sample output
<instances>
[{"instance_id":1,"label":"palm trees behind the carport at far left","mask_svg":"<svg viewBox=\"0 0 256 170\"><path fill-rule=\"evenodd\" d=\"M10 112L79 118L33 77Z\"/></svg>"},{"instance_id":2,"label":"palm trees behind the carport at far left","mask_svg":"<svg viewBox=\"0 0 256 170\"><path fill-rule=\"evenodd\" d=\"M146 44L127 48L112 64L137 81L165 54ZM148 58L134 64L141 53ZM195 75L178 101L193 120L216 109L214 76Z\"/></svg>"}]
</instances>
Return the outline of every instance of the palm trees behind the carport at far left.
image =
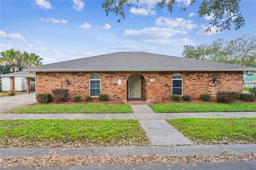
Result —
<instances>
[{"instance_id":1,"label":"palm trees behind the carport at far left","mask_svg":"<svg viewBox=\"0 0 256 170\"><path fill-rule=\"evenodd\" d=\"M1 51L0 65L1 70L4 67L8 67L10 72L17 72L25 67L42 65L42 60L43 58L39 57L35 53L29 54L26 51L24 51L24 53L21 53L20 51L9 49L6 51ZM6 68L4 70L6 70Z\"/></svg>"}]
</instances>

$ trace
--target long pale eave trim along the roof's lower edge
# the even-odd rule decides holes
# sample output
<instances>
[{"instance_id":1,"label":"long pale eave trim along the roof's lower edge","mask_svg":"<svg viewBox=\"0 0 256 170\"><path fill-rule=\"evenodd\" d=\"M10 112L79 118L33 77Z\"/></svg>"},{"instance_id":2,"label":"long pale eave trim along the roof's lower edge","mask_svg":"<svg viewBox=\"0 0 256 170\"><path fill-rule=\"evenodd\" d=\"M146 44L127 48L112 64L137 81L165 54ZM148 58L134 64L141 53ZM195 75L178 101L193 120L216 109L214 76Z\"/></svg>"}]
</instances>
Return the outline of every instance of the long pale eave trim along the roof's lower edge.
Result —
<instances>
[{"instance_id":1,"label":"long pale eave trim along the roof's lower edge","mask_svg":"<svg viewBox=\"0 0 256 170\"><path fill-rule=\"evenodd\" d=\"M27 72L67 72L67 71L256 71L256 68L177 68L177 69L29 69Z\"/></svg>"}]
</instances>

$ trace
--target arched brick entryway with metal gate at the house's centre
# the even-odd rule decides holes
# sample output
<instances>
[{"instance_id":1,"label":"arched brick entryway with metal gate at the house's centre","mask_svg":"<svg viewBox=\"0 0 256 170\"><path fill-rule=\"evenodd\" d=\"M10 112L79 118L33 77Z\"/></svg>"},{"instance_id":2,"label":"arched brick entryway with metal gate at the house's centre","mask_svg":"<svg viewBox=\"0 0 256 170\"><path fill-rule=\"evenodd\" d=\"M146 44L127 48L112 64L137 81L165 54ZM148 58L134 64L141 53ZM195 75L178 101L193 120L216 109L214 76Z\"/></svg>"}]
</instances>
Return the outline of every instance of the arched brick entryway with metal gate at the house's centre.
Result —
<instances>
[{"instance_id":1,"label":"arched brick entryway with metal gate at the house's centre","mask_svg":"<svg viewBox=\"0 0 256 170\"><path fill-rule=\"evenodd\" d=\"M141 74L132 74L127 80L127 101L146 100L146 80Z\"/></svg>"}]
</instances>

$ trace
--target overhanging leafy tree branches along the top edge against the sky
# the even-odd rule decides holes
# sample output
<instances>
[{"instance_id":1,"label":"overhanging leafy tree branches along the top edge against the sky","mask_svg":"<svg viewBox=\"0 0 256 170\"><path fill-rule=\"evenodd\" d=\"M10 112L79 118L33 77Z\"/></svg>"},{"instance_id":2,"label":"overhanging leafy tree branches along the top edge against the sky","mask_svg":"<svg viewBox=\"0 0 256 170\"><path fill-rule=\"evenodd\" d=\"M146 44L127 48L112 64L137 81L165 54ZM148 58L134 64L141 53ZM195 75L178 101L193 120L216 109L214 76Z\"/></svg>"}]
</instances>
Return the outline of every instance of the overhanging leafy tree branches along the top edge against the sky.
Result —
<instances>
[{"instance_id":1,"label":"overhanging leafy tree branches along the top edge against the sky","mask_svg":"<svg viewBox=\"0 0 256 170\"><path fill-rule=\"evenodd\" d=\"M134 0L135 1L135 0ZM105 9L106 15L109 12L114 12L117 16L125 19L124 7L130 7L132 0L105 0L102 4L102 8ZM230 30L231 24L234 24L235 30L240 29L245 20L239 12L239 3L241 0L185 0L184 6L180 11L185 11L189 6L194 5L196 2L200 2L198 9L199 18L204 16L211 16L212 21L209 22L209 27L206 31L211 31L212 27L217 27L217 32L222 30ZM139 0L136 0L139 3ZM175 2L178 0L161 0L158 2L159 8L167 6L167 11L172 13ZM121 19L117 20L118 22Z\"/></svg>"}]
</instances>

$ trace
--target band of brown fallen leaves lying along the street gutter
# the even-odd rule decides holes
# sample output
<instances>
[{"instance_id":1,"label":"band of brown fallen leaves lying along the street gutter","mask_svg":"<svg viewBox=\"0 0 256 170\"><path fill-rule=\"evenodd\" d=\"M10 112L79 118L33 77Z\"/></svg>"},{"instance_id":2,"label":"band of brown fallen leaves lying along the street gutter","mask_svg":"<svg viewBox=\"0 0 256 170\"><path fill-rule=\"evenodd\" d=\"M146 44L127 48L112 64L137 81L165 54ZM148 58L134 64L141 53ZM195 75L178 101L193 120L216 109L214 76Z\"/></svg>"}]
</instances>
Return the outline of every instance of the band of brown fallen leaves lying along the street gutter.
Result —
<instances>
[{"instance_id":1,"label":"band of brown fallen leaves lying along the street gutter","mask_svg":"<svg viewBox=\"0 0 256 170\"><path fill-rule=\"evenodd\" d=\"M54 153L51 156L38 157L4 157L0 159L0 167L10 168L17 166L29 167L52 167L52 166L75 166L75 165L102 165L102 164L150 164L165 163L177 164L180 162L224 162L256 160L256 154L237 154L231 155L223 153L220 155L201 155L201 156L160 156L151 154L128 155L128 156L95 156L87 155L61 155Z\"/></svg>"}]
</instances>

